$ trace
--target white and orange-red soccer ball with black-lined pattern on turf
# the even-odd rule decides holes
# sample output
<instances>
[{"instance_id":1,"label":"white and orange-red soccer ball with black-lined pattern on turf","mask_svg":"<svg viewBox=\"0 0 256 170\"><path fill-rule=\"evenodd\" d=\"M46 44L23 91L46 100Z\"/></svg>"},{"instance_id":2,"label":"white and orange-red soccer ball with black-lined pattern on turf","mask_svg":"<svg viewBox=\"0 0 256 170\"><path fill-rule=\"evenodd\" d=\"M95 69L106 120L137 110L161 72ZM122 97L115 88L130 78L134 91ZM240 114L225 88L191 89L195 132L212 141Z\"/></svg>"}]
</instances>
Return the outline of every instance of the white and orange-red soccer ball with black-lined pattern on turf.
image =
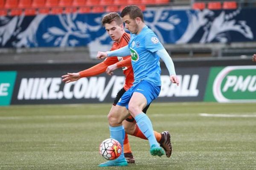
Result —
<instances>
[{"instance_id":1,"label":"white and orange-red soccer ball with black-lined pattern on turf","mask_svg":"<svg viewBox=\"0 0 256 170\"><path fill-rule=\"evenodd\" d=\"M121 155L122 146L116 139L106 139L99 145L99 153L107 160L114 160Z\"/></svg>"}]
</instances>

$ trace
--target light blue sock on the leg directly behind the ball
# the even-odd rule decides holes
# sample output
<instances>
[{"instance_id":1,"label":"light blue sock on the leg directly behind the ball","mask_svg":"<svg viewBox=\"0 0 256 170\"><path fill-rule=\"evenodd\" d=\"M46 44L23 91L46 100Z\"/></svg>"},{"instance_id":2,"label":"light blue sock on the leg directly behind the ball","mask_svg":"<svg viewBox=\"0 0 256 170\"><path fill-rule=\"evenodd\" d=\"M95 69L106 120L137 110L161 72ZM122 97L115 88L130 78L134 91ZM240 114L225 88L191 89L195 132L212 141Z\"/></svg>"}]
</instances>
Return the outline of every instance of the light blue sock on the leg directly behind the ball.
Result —
<instances>
[{"instance_id":1,"label":"light blue sock on the leg directly behind the ball","mask_svg":"<svg viewBox=\"0 0 256 170\"><path fill-rule=\"evenodd\" d=\"M125 158L124 156L124 140L125 140L125 128L121 125L121 126L109 126L109 130L110 130L110 137L113 139L116 139L118 142L120 142L121 146L122 146L122 153L121 155L116 159L118 160L122 160Z\"/></svg>"}]
</instances>

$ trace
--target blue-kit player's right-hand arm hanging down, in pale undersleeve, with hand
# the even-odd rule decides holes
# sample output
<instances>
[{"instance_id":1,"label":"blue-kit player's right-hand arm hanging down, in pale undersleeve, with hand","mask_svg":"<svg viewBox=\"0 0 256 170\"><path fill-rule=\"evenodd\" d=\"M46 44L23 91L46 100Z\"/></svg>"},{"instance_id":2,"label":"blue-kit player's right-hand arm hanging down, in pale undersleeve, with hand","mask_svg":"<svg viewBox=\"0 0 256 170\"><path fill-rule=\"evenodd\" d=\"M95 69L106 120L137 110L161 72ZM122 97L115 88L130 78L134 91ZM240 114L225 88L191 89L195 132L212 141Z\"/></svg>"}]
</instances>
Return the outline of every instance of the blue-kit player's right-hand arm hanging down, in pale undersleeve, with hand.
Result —
<instances>
[{"instance_id":1,"label":"blue-kit player's right-hand arm hanging down, in pale undersleeve, with hand","mask_svg":"<svg viewBox=\"0 0 256 170\"><path fill-rule=\"evenodd\" d=\"M172 61L172 58L169 56L169 54L167 53L166 49L161 49L159 51L157 51L157 55L163 59L163 62L165 63L169 74L170 74L170 80L172 83L176 83L177 86L179 86L180 84L180 80L179 78L176 76L175 73L175 68L174 68L174 63Z\"/></svg>"}]
</instances>

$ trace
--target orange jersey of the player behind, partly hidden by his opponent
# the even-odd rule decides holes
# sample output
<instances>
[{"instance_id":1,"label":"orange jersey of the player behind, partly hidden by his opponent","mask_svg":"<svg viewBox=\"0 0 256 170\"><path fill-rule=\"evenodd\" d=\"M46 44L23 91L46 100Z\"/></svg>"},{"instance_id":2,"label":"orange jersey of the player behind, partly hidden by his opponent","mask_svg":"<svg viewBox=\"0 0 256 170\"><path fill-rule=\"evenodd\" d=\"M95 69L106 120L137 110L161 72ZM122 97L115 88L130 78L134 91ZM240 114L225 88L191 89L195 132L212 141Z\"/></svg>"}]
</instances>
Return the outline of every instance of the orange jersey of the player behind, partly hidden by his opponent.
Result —
<instances>
[{"instance_id":1,"label":"orange jersey of the player behind, partly hidden by his opponent","mask_svg":"<svg viewBox=\"0 0 256 170\"><path fill-rule=\"evenodd\" d=\"M121 37L120 42L114 42L111 48L111 51L122 48L126 45L128 45L128 42L130 40L130 34L124 33ZM122 61L123 62L119 62ZM81 77L89 77L89 76L95 76L98 74L102 74L106 71L109 65L113 65L117 63L117 66L120 68L122 67L123 73L125 74L125 85L124 89L127 91L129 88L131 88L133 82L134 82L134 73L131 66L131 56L125 56L125 57L107 57L103 62L94 65L91 68L88 68L84 71L80 71L79 74Z\"/></svg>"}]
</instances>

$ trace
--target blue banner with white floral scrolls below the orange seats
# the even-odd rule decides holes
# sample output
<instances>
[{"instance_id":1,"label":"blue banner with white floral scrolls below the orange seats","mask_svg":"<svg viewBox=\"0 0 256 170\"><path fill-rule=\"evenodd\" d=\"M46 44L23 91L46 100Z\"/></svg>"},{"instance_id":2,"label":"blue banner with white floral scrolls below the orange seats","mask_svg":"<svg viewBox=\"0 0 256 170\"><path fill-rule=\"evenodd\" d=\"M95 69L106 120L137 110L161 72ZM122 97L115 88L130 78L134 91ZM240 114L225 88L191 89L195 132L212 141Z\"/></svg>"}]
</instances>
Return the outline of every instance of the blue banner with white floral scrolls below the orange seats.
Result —
<instances>
[{"instance_id":1,"label":"blue banner with white floral scrolls below the orange seats","mask_svg":"<svg viewBox=\"0 0 256 170\"><path fill-rule=\"evenodd\" d=\"M0 47L73 47L108 45L104 14L0 17ZM256 41L256 9L148 9L145 23L163 43Z\"/></svg>"}]
</instances>

